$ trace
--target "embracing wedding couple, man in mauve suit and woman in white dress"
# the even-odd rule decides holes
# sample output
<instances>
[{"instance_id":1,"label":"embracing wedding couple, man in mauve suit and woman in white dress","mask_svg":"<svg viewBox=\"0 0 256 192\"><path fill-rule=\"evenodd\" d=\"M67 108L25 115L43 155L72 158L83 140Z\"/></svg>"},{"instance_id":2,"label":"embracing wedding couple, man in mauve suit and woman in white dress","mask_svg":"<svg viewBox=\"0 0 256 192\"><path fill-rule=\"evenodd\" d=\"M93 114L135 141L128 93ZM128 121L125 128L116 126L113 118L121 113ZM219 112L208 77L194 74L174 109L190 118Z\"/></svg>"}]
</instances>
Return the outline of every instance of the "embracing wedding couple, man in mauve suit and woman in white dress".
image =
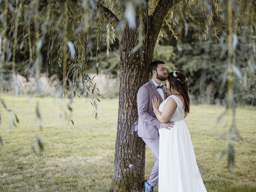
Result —
<instances>
[{"instance_id":1,"label":"embracing wedding couple, man in mauve suit and woman in white dress","mask_svg":"<svg viewBox=\"0 0 256 192\"><path fill-rule=\"evenodd\" d=\"M152 62L149 70L152 79L138 90L138 120L132 126L154 154L144 191L153 192L158 184L159 192L206 192L184 122L190 110L188 79L179 71L168 74L163 61Z\"/></svg>"}]
</instances>

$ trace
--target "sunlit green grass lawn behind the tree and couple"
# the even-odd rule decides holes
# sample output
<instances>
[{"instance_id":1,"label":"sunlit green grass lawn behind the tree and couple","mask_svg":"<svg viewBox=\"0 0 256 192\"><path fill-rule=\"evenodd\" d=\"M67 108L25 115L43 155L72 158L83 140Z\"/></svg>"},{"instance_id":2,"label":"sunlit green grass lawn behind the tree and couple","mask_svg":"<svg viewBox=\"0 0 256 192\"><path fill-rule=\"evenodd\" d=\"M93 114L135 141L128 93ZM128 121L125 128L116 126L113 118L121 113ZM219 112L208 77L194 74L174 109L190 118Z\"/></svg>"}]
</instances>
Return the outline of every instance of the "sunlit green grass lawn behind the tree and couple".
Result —
<instances>
[{"instance_id":1,"label":"sunlit green grass lawn behind the tree and couple","mask_svg":"<svg viewBox=\"0 0 256 192\"><path fill-rule=\"evenodd\" d=\"M98 104L99 120L85 99L72 105L72 120L66 102L59 98L2 96L8 108L18 115L20 123L10 129L12 112L0 106L0 191L83 191L106 192L112 178L118 116L118 100L102 99ZM36 117L36 102L42 114L42 130ZM192 105L186 123L192 137L198 167L208 192L256 192L256 109L237 109L236 124L242 138L236 139L235 169L230 172L226 157L216 159L228 140L219 136L228 131L226 118L219 124L221 106ZM64 118L64 116L68 118ZM44 143L44 157L31 149L36 134ZM36 150L38 150L38 146ZM146 148L145 177L154 164ZM157 191L157 188L155 189Z\"/></svg>"}]
</instances>

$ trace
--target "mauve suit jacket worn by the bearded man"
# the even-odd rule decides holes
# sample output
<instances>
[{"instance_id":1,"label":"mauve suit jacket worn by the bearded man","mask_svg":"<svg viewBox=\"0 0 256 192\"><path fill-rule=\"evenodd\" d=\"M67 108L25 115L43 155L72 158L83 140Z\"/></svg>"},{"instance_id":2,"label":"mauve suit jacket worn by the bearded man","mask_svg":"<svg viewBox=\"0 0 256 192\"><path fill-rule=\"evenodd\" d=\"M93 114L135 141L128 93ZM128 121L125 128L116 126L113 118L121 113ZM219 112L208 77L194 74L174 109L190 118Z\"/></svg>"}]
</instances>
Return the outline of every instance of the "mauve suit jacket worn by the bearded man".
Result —
<instances>
[{"instance_id":1,"label":"mauve suit jacket worn by the bearded man","mask_svg":"<svg viewBox=\"0 0 256 192\"><path fill-rule=\"evenodd\" d=\"M163 89L166 90L166 87L163 87ZM138 136L142 138L158 138L158 129L160 128L161 123L153 112L152 98L154 96L159 96L160 102L163 102L163 99L156 90L156 86L152 80L142 85L138 90L138 120L132 125L132 132L137 131ZM164 99L166 99L165 92Z\"/></svg>"}]
</instances>

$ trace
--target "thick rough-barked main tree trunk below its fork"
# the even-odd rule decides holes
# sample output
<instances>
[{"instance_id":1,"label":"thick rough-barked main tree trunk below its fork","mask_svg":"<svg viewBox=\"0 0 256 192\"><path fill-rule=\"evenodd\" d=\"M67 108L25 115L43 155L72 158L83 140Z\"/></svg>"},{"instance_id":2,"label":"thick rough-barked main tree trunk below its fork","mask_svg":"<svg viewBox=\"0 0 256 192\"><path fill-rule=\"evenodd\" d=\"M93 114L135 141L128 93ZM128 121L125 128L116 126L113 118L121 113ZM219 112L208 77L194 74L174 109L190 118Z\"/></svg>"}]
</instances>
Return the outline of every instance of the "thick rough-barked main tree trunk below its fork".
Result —
<instances>
[{"instance_id":1,"label":"thick rough-barked main tree trunk below its fork","mask_svg":"<svg viewBox=\"0 0 256 192\"><path fill-rule=\"evenodd\" d=\"M110 191L138 192L143 189L145 144L136 132L132 132L132 124L138 118L137 92L140 86L148 82L148 66L152 62L154 46L148 47L147 52L151 54L142 58L138 51L131 54L132 48L138 43L136 30L129 29L125 24L121 37L118 126Z\"/></svg>"}]
</instances>

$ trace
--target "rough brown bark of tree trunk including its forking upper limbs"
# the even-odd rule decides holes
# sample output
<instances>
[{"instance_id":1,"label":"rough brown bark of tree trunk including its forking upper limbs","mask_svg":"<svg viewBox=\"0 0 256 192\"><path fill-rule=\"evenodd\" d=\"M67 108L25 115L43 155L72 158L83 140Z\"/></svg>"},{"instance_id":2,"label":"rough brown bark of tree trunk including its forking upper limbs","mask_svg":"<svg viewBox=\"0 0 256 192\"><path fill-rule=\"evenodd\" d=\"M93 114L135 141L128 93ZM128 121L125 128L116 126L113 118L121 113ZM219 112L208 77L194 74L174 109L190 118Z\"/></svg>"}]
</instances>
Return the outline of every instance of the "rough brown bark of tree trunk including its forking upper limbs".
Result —
<instances>
[{"instance_id":1,"label":"rough brown bark of tree trunk including its forking upper limbs","mask_svg":"<svg viewBox=\"0 0 256 192\"><path fill-rule=\"evenodd\" d=\"M138 192L144 181L145 144L136 133L132 133L132 124L137 120L136 94L140 86L148 81L148 66L152 62L154 47L162 22L168 10L181 0L160 0L152 16L147 8L144 16L143 55L139 51L131 54L138 44L137 29L130 29L127 22L119 35L120 53L120 93L114 174L110 192ZM101 14L111 23L116 21L110 10L100 6ZM116 23L112 25L116 28ZM137 24L138 27L138 24Z\"/></svg>"}]
</instances>

